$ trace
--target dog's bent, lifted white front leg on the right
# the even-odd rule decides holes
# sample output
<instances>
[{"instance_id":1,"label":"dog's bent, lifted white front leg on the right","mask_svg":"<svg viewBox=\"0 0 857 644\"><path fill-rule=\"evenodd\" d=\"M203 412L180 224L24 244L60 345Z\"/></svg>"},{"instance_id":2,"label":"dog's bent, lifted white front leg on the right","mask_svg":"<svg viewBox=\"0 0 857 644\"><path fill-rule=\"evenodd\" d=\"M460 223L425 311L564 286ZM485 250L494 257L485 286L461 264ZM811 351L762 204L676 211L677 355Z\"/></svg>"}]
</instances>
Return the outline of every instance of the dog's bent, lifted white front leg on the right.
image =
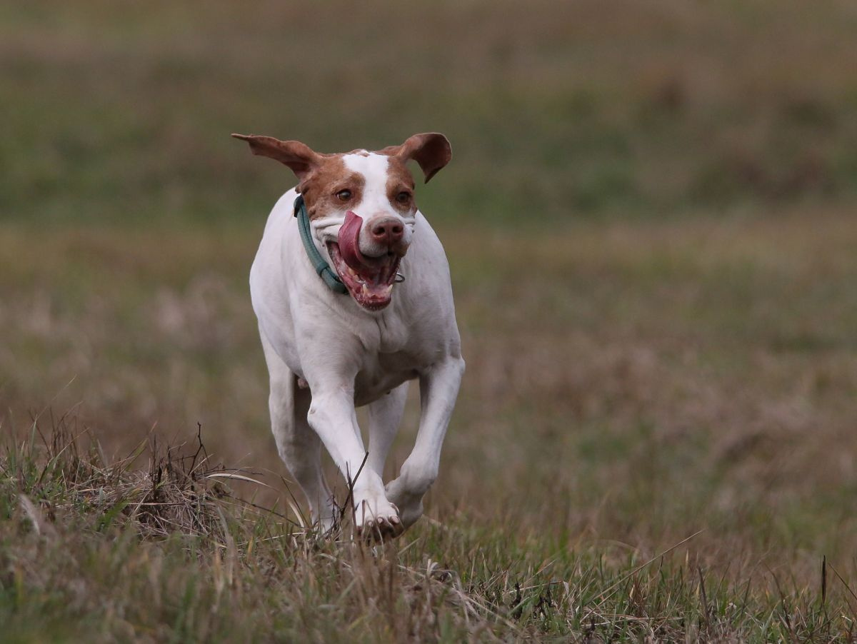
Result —
<instances>
[{"instance_id":1,"label":"dog's bent, lifted white front leg on the right","mask_svg":"<svg viewBox=\"0 0 857 644\"><path fill-rule=\"evenodd\" d=\"M423 496L437 478L440 448L455 407L464 360L449 356L420 374L420 428L411 456L402 463L399 478L387 484L387 498L399 507L405 528L423 515Z\"/></svg>"}]
</instances>

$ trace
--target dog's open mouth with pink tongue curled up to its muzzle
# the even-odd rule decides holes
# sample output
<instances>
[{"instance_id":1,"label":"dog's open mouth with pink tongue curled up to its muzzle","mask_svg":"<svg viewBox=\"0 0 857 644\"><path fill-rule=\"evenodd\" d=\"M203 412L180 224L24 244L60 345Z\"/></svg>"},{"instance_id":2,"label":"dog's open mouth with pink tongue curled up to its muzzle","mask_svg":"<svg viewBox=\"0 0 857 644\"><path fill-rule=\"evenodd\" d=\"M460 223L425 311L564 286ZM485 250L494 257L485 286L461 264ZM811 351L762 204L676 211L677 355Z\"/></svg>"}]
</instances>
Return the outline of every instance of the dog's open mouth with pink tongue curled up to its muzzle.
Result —
<instances>
[{"instance_id":1,"label":"dog's open mouth with pink tongue curled up to its muzzle","mask_svg":"<svg viewBox=\"0 0 857 644\"><path fill-rule=\"evenodd\" d=\"M339 229L338 241L327 242L327 251L339 279L357 304L369 311L380 311L393 300L393 282L402 256L392 252L380 257L363 255L358 247L361 224L363 219L349 212Z\"/></svg>"}]
</instances>

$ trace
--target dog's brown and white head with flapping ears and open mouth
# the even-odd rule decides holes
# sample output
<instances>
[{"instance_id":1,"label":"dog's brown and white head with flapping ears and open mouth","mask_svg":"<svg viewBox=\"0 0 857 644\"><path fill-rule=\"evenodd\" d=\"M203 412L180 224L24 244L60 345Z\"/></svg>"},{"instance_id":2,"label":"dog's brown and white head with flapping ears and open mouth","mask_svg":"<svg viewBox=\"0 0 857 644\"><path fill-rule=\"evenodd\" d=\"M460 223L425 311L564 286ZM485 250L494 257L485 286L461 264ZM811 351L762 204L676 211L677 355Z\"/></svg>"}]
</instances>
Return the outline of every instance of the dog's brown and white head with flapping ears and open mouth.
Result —
<instances>
[{"instance_id":1,"label":"dog's brown and white head with flapping ears and open mouth","mask_svg":"<svg viewBox=\"0 0 857 644\"><path fill-rule=\"evenodd\" d=\"M406 164L417 161L428 182L452 158L446 137L414 134L378 152L320 154L300 141L233 136L248 141L254 154L275 158L295 172L316 247L361 307L387 307L417 214Z\"/></svg>"}]
</instances>

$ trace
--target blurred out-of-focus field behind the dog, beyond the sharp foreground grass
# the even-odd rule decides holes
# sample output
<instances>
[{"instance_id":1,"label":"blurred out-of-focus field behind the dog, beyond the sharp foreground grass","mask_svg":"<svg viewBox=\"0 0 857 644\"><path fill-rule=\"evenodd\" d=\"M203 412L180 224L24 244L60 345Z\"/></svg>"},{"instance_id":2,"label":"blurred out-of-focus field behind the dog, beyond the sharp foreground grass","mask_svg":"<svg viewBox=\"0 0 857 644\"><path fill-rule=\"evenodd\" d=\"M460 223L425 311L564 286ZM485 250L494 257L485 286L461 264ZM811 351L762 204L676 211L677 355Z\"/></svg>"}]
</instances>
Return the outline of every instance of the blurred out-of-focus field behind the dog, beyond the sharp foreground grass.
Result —
<instances>
[{"instance_id":1,"label":"blurred out-of-focus field behind the dog, beyond the sharp foreground grass","mask_svg":"<svg viewBox=\"0 0 857 644\"><path fill-rule=\"evenodd\" d=\"M281 491L247 280L294 179L229 134L440 131L468 372L429 516L853 552L854 33L845 0L3 3L3 432L200 423Z\"/></svg>"}]
</instances>

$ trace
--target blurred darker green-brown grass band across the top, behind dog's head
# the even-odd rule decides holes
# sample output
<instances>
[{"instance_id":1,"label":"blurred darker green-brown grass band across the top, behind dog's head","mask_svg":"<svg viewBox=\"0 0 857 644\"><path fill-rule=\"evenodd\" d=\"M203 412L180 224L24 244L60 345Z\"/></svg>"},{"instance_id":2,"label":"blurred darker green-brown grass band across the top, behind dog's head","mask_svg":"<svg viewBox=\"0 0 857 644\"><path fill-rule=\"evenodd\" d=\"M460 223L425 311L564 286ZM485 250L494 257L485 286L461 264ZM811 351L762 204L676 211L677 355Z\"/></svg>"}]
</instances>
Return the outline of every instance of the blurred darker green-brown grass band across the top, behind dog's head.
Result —
<instances>
[{"instance_id":1,"label":"blurred darker green-brown grass band across the top, behind dog's head","mask_svg":"<svg viewBox=\"0 0 857 644\"><path fill-rule=\"evenodd\" d=\"M255 220L291 176L234 131L321 151L442 131L423 205L449 221L854 199L852 11L619 7L13 3L0 216Z\"/></svg>"}]
</instances>

